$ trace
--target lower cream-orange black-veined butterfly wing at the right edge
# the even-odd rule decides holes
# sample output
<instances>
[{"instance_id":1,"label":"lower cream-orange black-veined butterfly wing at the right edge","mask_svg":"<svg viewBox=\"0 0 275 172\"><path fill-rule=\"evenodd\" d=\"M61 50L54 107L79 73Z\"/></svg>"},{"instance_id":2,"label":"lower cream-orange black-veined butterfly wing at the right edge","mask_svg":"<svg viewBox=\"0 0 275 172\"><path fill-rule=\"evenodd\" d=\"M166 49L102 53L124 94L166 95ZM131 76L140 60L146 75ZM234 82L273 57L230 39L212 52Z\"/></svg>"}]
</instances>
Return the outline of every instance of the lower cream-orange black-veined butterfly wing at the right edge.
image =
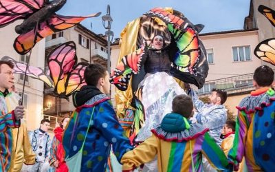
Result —
<instances>
[{"instance_id":1,"label":"lower cream-orange black-veined butterfly wing at the right edge","mask_svg":"<svg viewBox=\"0 0 275 172\"><path fill-rule=\"evenodd\" d=\"M254 54L261 60L275 65L275 39L266 39L259 43Z\"/></svg>"}]
</instances>

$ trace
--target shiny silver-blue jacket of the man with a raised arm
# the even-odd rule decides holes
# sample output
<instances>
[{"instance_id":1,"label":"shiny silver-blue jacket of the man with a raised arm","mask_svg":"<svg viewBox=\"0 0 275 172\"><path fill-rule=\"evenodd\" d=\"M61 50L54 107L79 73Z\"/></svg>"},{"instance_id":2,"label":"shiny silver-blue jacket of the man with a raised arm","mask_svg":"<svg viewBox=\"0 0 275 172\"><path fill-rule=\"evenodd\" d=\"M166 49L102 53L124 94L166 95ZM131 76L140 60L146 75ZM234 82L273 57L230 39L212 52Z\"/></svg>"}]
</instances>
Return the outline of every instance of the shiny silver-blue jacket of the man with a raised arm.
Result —
<instances>
[{"instance_id":1,"label":"shiny silver-blue jacket of the man with a raised arm","mask_svg":"<svg viewBox=\"0 0 275 172\"><path fill-rule=\"evenodd\" d=\"M191 89L190 94L198 114L197 122L209 129L208 133L217 144L221 144L221 129L228 118L227 109L223 105L208 105L199 100L197 94Z\"/></svg>"}]
</instances>

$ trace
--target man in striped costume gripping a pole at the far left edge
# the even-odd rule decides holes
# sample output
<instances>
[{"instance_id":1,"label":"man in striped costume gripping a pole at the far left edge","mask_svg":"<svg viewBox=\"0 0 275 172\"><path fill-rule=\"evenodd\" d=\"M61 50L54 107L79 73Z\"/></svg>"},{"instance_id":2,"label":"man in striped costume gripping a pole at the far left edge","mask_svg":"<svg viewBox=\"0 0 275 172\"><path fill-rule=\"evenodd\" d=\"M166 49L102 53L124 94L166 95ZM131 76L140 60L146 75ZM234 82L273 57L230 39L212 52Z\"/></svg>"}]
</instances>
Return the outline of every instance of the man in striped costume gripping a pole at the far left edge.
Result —
<instances>
[{"instance_id":1,"label":"man in striped costume gripping a pole at the far left edge","mask_svg":"<svg viewBox=\"0 0 275 172\"><path fill-rule=\"evenodd\" d=\"M5 103L8 89L14 85L13 66L11 62L0 61L0 172L8 171L12 152L11 128L19 127L20 119L24 115L22 106L15 107L14 111L8 112Z\"/></svg>"}]
</instances>

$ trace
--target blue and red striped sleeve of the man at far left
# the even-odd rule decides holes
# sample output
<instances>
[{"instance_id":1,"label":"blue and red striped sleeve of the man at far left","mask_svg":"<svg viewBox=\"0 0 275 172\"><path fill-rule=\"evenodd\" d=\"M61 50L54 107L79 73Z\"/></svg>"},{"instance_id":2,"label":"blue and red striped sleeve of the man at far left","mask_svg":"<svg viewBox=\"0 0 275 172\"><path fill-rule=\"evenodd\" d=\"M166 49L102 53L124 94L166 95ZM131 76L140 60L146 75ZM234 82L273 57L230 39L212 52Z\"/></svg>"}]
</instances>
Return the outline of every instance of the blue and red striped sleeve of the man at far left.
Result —
<instances>
[{"instance_id":1,"label":"blue and red striped sleeve of the man at far left","mask_svg":"<svg viewBox=\"0 0 275 172\"><path fill-rule=\"evenodd\" d=\"M15 120L14 111L10 112L9 114L0 115L0 132L5 131L7 127L20 127L20 120Z\"/></svg>"}]
</instances>

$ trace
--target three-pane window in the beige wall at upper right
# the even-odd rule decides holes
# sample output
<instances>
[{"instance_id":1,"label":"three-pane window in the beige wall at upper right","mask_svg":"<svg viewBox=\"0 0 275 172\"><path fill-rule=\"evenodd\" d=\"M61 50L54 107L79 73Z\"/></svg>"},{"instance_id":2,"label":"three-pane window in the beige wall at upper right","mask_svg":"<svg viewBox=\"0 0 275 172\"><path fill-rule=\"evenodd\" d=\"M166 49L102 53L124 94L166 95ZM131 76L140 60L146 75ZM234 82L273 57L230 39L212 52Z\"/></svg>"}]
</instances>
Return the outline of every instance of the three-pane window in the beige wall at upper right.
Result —
<instances>
[{"instance_id":1,"label":"three-pane window in the beige wall at upper right","mask_svg":"<svg viewBox=\"0 0 275 172\"><path fill-rule=\"evenodd\" d=\"M250 46L232 47L233 61L251 61Z\"/></svg>"}]
</instances>

